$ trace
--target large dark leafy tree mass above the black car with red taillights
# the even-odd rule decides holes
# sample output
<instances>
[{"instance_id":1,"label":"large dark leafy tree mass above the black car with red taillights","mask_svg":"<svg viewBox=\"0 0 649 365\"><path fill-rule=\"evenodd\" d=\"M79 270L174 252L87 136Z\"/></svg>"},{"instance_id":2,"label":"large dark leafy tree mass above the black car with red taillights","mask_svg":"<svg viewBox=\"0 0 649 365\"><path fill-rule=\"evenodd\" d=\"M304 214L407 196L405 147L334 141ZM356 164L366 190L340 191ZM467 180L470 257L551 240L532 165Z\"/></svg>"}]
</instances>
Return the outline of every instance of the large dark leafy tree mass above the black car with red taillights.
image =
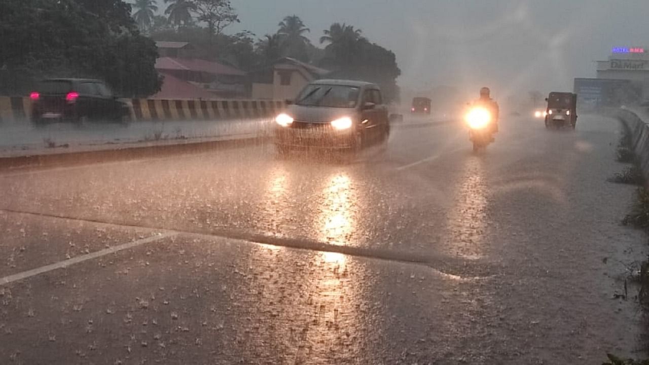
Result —
<instances>
[{"instance_id":1,"label":"large dark leafy tree mass above the black car with red taillights","mask_svg":"<svg viewBox=\"0 0 649 365\"><path fill-rule=\"evenodd\" d=\"M160 90L156 57L122 1L2 0L0 94L24 95L43 77L96 77L146 96Z\"/></svg>"}]
</instances>

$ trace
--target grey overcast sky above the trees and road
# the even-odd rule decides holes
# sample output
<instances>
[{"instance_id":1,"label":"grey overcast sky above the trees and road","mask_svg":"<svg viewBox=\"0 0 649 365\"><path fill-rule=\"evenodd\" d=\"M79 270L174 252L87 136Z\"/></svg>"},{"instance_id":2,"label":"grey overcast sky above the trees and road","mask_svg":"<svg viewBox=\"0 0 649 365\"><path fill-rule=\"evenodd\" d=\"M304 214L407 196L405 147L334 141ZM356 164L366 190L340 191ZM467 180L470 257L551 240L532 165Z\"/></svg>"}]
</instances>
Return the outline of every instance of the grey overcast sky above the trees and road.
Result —
<instances>
[{"instance_id":1,"label":"grey overcast sky above the trees and road","mask_svg":"<svg viewBox=\"0 0 649 365\"><path fill-rule=\"evenodd\" d=\"M572 90L611 47L649 45L647 0L232 0L243 29L296 14L318 43L345 22L397 54L406 88L489 85L496 94ZM472 90L472 89L471 89ZM497 91L496 91L497 90ZM498 92L500 91L500 92Z\"/></svg>"}]
</instances>

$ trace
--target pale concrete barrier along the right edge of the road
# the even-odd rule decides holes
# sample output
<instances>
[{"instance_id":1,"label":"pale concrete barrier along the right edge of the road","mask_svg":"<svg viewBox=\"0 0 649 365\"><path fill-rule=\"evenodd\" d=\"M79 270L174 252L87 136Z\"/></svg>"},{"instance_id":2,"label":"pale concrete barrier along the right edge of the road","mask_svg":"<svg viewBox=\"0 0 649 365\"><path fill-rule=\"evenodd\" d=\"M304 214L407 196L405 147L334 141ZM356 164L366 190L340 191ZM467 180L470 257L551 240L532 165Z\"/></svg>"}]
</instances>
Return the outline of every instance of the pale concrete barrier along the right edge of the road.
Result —
<instances>
[{"instance_id":1,"label":"pale concrete barrier along the right edge of the road","mask_svg":"<svg viewBox=\"0 0 649 365\"><path fill-rule=\"evenodd\" d=\"M637 110L620 108L615 116L622 123L626 136L630 138L631 148L639 158L644 179L649 181L649 121L648 116Z\"/></svg>"}]
</instances>

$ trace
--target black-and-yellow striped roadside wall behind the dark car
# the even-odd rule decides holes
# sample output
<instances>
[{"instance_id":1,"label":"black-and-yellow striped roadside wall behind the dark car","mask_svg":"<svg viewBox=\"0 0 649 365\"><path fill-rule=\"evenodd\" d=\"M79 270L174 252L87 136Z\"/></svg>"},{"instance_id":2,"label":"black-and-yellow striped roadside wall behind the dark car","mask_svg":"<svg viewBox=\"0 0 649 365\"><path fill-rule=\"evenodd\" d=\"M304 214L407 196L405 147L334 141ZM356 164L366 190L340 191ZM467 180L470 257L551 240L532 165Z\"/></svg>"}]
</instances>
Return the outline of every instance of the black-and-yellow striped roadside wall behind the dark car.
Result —
<instances>
[{"instance_id":1,"label":"black-and-yellow striped roadside wall behind the dark car","mask_svg":"<svg viewBox=\"0 0 649 365\"><path fill-rule=\"evenodd\" d=\"M133 121L268 118L286 107L284 101L277 100L129 100ZM0 122L29 120L31 110L29 97L0 96Z\"/></svg>"}]
</instances>

